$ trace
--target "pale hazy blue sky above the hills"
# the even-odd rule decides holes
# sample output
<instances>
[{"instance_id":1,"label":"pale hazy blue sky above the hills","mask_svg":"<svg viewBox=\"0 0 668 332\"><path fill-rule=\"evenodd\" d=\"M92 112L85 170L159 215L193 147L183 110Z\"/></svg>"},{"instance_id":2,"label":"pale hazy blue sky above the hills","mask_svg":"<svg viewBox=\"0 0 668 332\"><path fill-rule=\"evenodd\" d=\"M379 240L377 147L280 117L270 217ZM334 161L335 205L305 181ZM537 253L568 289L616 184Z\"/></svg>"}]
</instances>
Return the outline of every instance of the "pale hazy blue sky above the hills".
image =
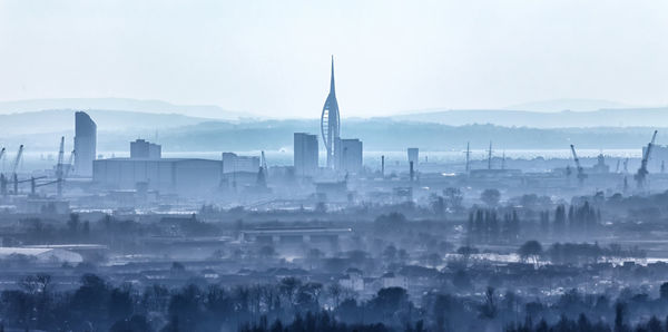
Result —
<instances>
[{"instance_id":1,"label":"pale hazy blue sky above the hills","mask_svg":"<svg viewBox=\"0 0 668 332\"><path fill-rule=\"evenodd\" d=\"M318 117L593 98L668 105L668 1L0 0L0 100Z\"/></svg>"}]
</instances>

